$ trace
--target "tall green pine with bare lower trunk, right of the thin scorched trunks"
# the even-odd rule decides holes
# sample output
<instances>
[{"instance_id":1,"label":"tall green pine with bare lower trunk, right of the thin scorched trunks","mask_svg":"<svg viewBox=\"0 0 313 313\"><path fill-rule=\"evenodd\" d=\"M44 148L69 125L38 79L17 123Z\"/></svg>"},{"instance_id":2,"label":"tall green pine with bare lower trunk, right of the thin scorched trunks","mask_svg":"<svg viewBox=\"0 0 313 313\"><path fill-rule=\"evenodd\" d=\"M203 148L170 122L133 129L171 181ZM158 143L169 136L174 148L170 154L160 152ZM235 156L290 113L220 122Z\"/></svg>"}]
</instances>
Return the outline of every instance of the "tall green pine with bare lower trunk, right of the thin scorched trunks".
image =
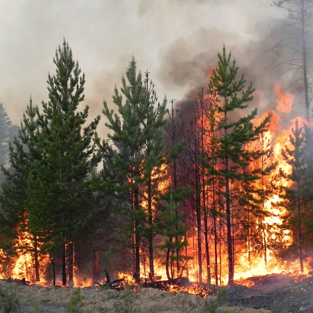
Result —
<instances>
[{"instance_id":1,"label":"tall green pine with bare lower trunk, right of the thin scorched trunks","mask_svg":"<svg viewBox=\"0 0 313 313\"><path fill-rule=\"evenodd\" d=\"M218 171L218 175L225 179L225 215L227 225L227 247L228 247L228 284L233 284L234 274L234 250L232 233L233 201L230 197L233 193L232 181L249 182L259 178L257 171L245 172L246 167L252 160L258 158L260 151L248 151L245 145L257 139L259 134L264 131L264 127L269 118L265 119L259 126L254 127L252 120L257 114L257 110L249 115L235 120L236 109L247 108L246 102L253 99L254 89L250 84L245 89L244 75L236 80L238 66L235 60L231 63L231 53L226 55L225 45L223 53L218 53L218 67L213 70L213 76L209 81L208 93L218 102L218 112L221 115L219 129L222 132L219 140L216 155L223 160L223 168ZM238 93L241 92L241 97ZM239 199L240 192L236 192L232 197Z\"/></svg>"}]
</instances>

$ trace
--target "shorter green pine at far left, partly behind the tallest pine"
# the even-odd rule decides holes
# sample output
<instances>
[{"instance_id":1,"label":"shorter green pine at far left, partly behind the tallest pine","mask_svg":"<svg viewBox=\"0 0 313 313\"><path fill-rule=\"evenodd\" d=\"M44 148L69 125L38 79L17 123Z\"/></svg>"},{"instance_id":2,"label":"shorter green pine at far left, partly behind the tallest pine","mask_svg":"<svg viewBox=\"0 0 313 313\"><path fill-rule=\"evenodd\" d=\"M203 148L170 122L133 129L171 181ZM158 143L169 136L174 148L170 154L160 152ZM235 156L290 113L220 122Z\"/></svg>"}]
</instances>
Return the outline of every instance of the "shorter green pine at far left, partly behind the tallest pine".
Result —
<instances>
[{"instance_id":1,"label":"shorter green pine at far left, partly behind the tallest pine","mask_svg":"<svg viewBox=\"0 0 313 313\"><path fill-rule=\"evenodd\" d=\"M1 223L4 223L1 227L2 238L5 233L10 238L7 242L7 248L4 248L4 250L8 254L20 253L19 250L23 249L23 247L15 244L18 236L24 231L32 234L33 247L27 247L26 251L33 252L36 281L39 280L37 236L30 231L27 224L29 201L27 188L29 174L33 169L33 162L38 158L35 141L35 136L38 132L37 113L38 107L33 105L30 98L29 104L23 112L23 120L18 137L15 137L13 144L9 143L10 168L7 169L2 166L7 182L2 184L3 192L0 197L3 210Z\"/></svg>"}]
</instances>

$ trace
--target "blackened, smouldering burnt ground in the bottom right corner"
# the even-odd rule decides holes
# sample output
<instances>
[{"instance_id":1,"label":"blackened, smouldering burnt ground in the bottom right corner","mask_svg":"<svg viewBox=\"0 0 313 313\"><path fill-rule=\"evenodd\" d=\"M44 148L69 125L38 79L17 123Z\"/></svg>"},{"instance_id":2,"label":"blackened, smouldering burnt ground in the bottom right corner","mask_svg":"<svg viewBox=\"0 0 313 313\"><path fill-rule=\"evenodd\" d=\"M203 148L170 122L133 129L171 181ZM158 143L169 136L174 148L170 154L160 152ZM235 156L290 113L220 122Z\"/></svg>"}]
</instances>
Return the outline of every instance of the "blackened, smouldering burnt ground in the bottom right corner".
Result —
<instances>
[{"instance_id":1,"label":"blackened, smouldering burnt ground in the bottom right corner","mask_svg":"<svg viewBox=\"0 0 313 313\"><path fill-rule=\"evenodd\" d=\"M312 273L310 273L312 274ZM252 287L235 285L227 290L225 302L240 307L266 309L277 313L313 312L313 277L271 274L252 277Z\"/></svg>"}]
</instances>

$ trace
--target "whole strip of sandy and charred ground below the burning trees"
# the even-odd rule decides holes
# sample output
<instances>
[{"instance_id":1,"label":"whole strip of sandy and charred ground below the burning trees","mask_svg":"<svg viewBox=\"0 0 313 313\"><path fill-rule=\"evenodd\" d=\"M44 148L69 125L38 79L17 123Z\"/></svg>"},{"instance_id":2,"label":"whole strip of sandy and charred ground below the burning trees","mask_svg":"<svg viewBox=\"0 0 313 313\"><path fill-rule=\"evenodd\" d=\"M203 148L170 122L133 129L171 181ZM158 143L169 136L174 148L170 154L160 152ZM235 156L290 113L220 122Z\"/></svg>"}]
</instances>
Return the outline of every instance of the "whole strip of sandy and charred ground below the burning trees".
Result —
<instances>
[{"instance_id":1,"label":"whole strip of sandy and charred ground below the burning trees","mask_svg":"<svg viewBox=\"0 0 313 313\"><path fill-rule=\"evenodd\" d=\"M133 290L80 290L84 297L75 308L86 313L202 313L214 301L222 311L233 313L287 313L313 312L313 278L291 275L266 275L249 279L251 287L235 285L227 288L222 298L169 293L152 288ZM73 288L19 285L0 281L1 299L8 290L15 293L21 306L17 312L56 313L67 312L71 300L75 300ZM213 289L213 288L212 288ZM218 294L218 288L214 291ZM220 293L222 294L222 293ZM77 296L76 296L77 297ZM209 313L213 313L210 311Z\"/></svg>"}]
</instances>

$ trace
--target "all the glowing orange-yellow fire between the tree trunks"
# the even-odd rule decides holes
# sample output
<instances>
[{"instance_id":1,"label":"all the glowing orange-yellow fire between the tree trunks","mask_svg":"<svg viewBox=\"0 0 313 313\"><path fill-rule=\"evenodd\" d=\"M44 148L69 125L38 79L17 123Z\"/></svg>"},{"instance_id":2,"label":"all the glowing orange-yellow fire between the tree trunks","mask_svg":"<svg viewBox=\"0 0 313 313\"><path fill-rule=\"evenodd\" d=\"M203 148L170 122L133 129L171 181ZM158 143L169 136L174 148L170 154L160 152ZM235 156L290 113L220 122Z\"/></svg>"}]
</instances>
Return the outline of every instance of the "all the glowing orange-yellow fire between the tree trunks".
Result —
<instances>
[{"instance_id":1,"label":"all the glowing orange-yellow fire between the tree trunks","mask_svg":"<svg viewBox=\"0 0 313 313\"><path fill-rule=\"evenodd\" d=\"M281 88L279 86L275 86L276 94L278 96L278 99L276 101L277 104L277 110L280 112L287 113L291 110L291 104L294 99L293 95L288 95L283 92L281 92ZM206 97L205 100L208 100L209 98ZM291 168L290 165L286 163L286 161L281 156L281 150L285 148L285 145L288 145L288 138L290 135L290 129L284 130L281 125L281 119L279 114L275 113L274 111L267 112L259 120L262 120L264 116L271 114L272 119L269 123L269 128L266 132L262 133L262 136L259 138L258 141L254 143L254 145L251 145L248 147L248 149L263 149L264 151L268 149L272 149L273 153L270 153L269 157L267 159L264 159L262 162L264 162L263 166L269 166L270 164L276 164L274 170L268 175L268 176L262 176L261 180L258 180L255 182L255 184L258 184L260 188L264 189L266 191L266 188L269 187L270 183L274 183L279 190L279 187L286 187L291 184L288 179L284 177L279 177L279 172L284 171L285 173L290 173ZM205 113L202 115L202 120L199 119L199 123L201 125L205 125L206 127L209 127L209 121L208 121L208 115ZM298 120L301 122L301 124L304 123L302 119L298 117ZM259 122L259 121L257 121ZM292 122L291 122L292 123ZM202 130L203 126L200 126L200 129ZM210 137L209 133L205 133L205 141L206 145L203 147L210 147L209 141L212 137ZM261 161L258 161L261 162ZM258 164L259 166L260 164ZM249 167L253 169L255 164L251 163ZM252 170L251 169L251 170ZM171 184L171 178L168 178L167 180L164 180L163 178L167 177L167 168L165 163L162 165L160 169L154 168L154 170L151 173L151 180L157 181L157 189L161 193L165 193L168 186ZM204 176L203 176L204 177ZM143 177L142 177L143 178ZM132 182L134 183L134 181ZM209 189L208 186L206 186L205 192L208 194L211 194L212 191ZM145 208L146 213L149 213L149 195L147 192L144 192L144 198L145 200L142 203L143 208ZM208 201L208 200L205 200ZM289 229L282 229L282 223L283 223L283 216L285 215L285 209L282 208L282 206L279 205L281 202L280 194L279 193L273 193L270 194L269 197L265 200L263 200L263 203L261 203L261 206L263 206L266 213L259 214L258 216L254 217L254 220L252 222L251 220L251 229L248 231L247 241L239 244L234 244L234 281L239 284L246 284L249 285L249 280L247 280L249 277L252 276L261 276L261 275L267 275L270 273L294 273L296 276L299 273L299 260L295 260L293 262L287 262L286 260L282 260L275 252L275 249L273 247L275 246L281 246L283 249L287 249L288 246L290 246L293 243L293 236L291 234L291 231ZM150 203L152 206L152 212L156 212L156 203L152 199L152 202ZM203 202L202 202L203 205ZM210 206L211 204L209 202L206 203L207 206ZM154 213L153 213L154 214ZM201 228L204 229L204 219L205 215L201 216ZM252 218L252 216L251 216ZM154 219L154 215L153 215ZM216 221L218 227L218 232L220 233L220 236L225 236L226 228L223 222L223 216L218 215L216 216ZM236 221L236 218L233 217L233 222ZM248 225L249 226L249 225ZM213 227L211 226L208 227ZM250 227L250 226L249 226ZM234 229L234 231L236 231ZM203 296L206 293L205 290L201 289L201 283L199 285L199 282L205 283L205 284L218 284L218 285L225 285L228 281L228 256L227 256L227 245L225 241L219 241L218 245L214 247L214 244L209 245L208 253L209 255L213 256L214 254L218 253L218 264L214 264L214 262L211 261L210 264L207 264L206 261L201 261L203 267L206 267L208 270L203 271L199 270L199 260L198 256L202 255L203 259L206 255L207 251L205 251L204 245L202 245L202 251L201 254L199 254L198 251L198 232L197 227L192 226L187 231L187 245L185 249L186 255L189 257L187 259L187 262L184 267L180 269L181 273L176 272L174 270L174 274L177 275L177 277L187 277L188 282L194 283L198 285L198 287L195 287L196 285L177 285L175 284L174 280L168 282L168 291L171 292L179 292L180 290L188 291L189 293L202 293ZM212 233L208 234L209 241L212 242ZM177 239L173 239L177 240ZM178 240L184 241L184 236L178 238ZM11 263L8 265L3 265L3 273L1 275L2 279L7 279L8 277L11 277L12 279L22 279L23 277L26 278L27 281L30 283L36 283L36 284L49 284L49 281L44 277L45 268L49 265L50 260L46 256L42 256L40 258L40 280L35 280L35 274L34 274L34 258L33 258L33 241L31 240L31 236L23 232L21 233L19 237L19 243L18 247L25 247L25 249L19 253L18 257L12 258ZM201 241L205 242L205 233L201 231ZM27 249L26 249L27 247ZM214 248L217 250L214 250ZM142 275L142 281L150 282L152 281L158 283L162 281L167 281L167 270L164 263L162 263L162 260L155 259L154 260L154 275L153 278L151 278L149 272L149 260L145 254L145 250L141 249L141 254L144 257L144 259L141 259L140 264L140 270ZM6 257L3 257L5 264ZM304 274L307 274L309 271L311 271L310 267L310 259L305 259L304 261ZM214 275L214 269L215 269L215 275ZM201 273L201 274L200 274ZM201 275L201 279L200 276ZM208 277L210 275L210 277ZM149 278L150 277L150 278ZM136 285L136 281L131 274L127 274L126 272L119 272L117 273L117 278L120 280L123 280L123 283L121 285ZM218 278L218 281L215 281L216 278ZM62 285L60 281L56 282L57 285ZM86 287L93 285L93 281L91 278L81 278L79 275L79 269L74 268L74 287ZM105 280L101 280L98 283L105 284ZM199 289L200 288L200 289Z\"/></svg>"}]
</instances>

